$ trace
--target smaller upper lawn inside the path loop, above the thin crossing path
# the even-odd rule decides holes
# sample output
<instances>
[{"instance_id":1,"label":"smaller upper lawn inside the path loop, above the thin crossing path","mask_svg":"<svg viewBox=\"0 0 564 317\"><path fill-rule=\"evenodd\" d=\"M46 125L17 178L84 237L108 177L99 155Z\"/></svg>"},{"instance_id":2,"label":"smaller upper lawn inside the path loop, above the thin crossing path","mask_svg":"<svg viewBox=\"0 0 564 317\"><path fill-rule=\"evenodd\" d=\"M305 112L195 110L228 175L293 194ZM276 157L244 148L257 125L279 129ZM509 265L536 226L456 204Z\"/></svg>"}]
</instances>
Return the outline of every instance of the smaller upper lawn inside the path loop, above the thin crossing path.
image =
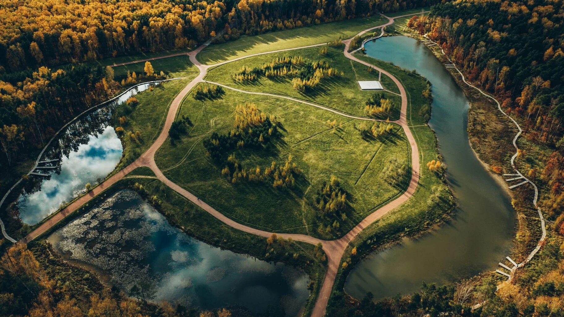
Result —
<instances>
[{"instance_id":1,"label":"smaller upper lawn inside the path loop, above the thin crossing path","mask_svg":"<svg viewBox=\"0 0 564 317\"><path fill-rule=\"evenodd\" d=\"M257 81L243 83L235 82L230 78L232 74L239 72L244 65L253 68L258 65L270 63L272 59L282 56L302 56L306 61L324 60L331 64L331 67L342 71L344 76L325 78L315 90L309 93L301 93L297 89L294 89L291 77L260 77ZM379 78L378 71L373 70L369 73L367 69L368 67L347 59L341 50L329 47L327 55L322 56L319 54L319 47L311 47L289 52L259 55L223 64L210 69L205 79L212 82L223 83L224 85L241 90L285 95L307 100L356 116L367 116L364 110L366 101L374 93L384 93L386 98L393 101L394 107L391 108L389 115L380 116L380 118L386 119L389 117L390 120L398 119L401 107L401 100L398 95L386 91L360 90L357 81L378 80ZM381 76L381 82L385 89L399 93L398 87L391 81L391 78L383 75Z\"/></svg>"}]
</instances>

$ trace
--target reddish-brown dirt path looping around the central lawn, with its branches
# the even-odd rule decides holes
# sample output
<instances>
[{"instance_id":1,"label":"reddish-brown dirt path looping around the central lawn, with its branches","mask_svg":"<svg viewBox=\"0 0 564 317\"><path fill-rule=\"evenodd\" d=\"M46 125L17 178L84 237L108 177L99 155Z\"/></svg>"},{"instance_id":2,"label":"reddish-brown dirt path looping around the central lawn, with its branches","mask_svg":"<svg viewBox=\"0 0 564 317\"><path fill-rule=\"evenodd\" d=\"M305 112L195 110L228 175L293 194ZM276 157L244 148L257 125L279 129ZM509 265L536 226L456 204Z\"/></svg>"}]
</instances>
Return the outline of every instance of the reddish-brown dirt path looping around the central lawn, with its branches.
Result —
<instances>
[{"instance_id":1,"label":"reddish-brown dirt path looping around the central lawn, with its branches","mask_svg":"<svg viewBox=\"0 0 564 317\"><path fill-rule=\"evenodd\" d=\"M419 14L419 13L416 13L416 14ZM402 15L402 16L396 16L396 17L385 16L388 19L388 22L386 24L378 25L377 27L373 27L373 28L363 30L362 32L360 32L357 35L360 36L360 35L364 34L365 32L368 32L369 30L373 30L373 29L377 29L377 28L381 28L383 30L383 28L386 27L387 25L394 23L394 19L397 19L399 17L404 17L404 16L416 15L416 14L408 14L408 15ZM288 239L289 237L291 237L294 240L303 241L303 242L306 242L306 243L311 243L311 244L321 243L321 245L323 245L323 250L324 250L325 254L327 254L327 262L328 262L327 274L325 275L325 279L323 281L323 284L321 285L318 300L316 301L314 309L313 309L312 314L311 314L312 317L322 317L322 316L325 315L325 309L327 308L329 296L331 295L331 290L333 288L333 283L334 283L334 280L335 280L336 275L337 275L339 263L341 262L341 258L343 256L343 253L345 252L345 249L346 249L347 245L350 243L350 241L352 239L354 239L354 237L356 237L360 232L362 232L364 230L364 228L368 227L374 221L377 221L383 215L390 212L394 208L403 204L403 202L407 201L409 199L409 197L411 197L413 195L413 193L415 192L415 190L417 188L418 181L419 181L419 170L420 170L419 152L418 152L418 148L417 148L417 143L415 142L415 138L413 138L411 130L409 130L409 126L407 125L407 119L406 119L407 94L406 94L406 90L404 89L402 84L397 80L397 78L395 78L392 74L384 71L384 69L377 68L376 66L374 66L372 64L369 64L365 61L359 60L359 59L355 58L354 56L352 56L348 52L349 45L350 45L350 39L343 41L343 43L345 43L345 50L343 51L343 54L345 54L345 56L347 58L354 60L358 63L361 63L363 65L367 65L368 67L372 67L373 69L376 69L377 71L380 71L380 72L386 74L398 86L398 89L400 91L400 96L402 98L402 106L401 106L400 118L399 118L399 120L396 120L394 122L396 124L399 124L399 125L402 126L404 133L406 134L406 137L409 140L409 145L410 145L410 148L411 148L412 175L411 175L411 180L409 181L409 186L408 186L407 190L401 196L397 197L393 201L390 201L388 204L382 206L381 208L378 208L377 210L375 210L372 214L368 215L366 218L364 218L362 221L360 221L355 227L353 227L349 232L347 232L346 235L342 236L340 239L327 241L327 240L321 240L321 239L318 239L318 238L315 238L315 237L302 235L302 234L277 234L281 237L284 237L284 239ZM74 210L77 210L78 208L80 208L83 204L90 201L90 199L92 199L92 197L95 197L96 195L98 195L100 192L102 192L106 188L112 186L118 180L124 178L126 174L130 173L130 171L133 171L135 168L138 168L139 166L147 166L148 168L151 168L153 173L155 173L156 177L161 182L163 182L164 184L166 184L167 186L172 188L174 191L177 191L178 193L180 193L180 195L186 197L186 199L193 202L193 204L200 206L200 208L204 209L206 212L213 215L215 218L219 219L220 221L227 224L228 226L231 226L233 228L236 228L237 230L241 230L241 231L248 232L250 234L254 234L254 235L258 235L258 236L263 236L263 237L271 236L272 232L258 230L256 228L245 226L244 224L233 221L231 218L228 218L225 215L223 215L222 213L218 212L213 207L206 204L204 201L201 201L200 199L198 199L191 192L184 190L184 188L178 186L178 184L175 184L174 182L172 182L171 180L166 178L165 175L162 173L162 171L158 168L158 166L155 162L155 153L156 153L157 149L160 148L161 145L165 142L166 138L168 138L170 126L174 122L174 118L177 115L178 108L180 107L180 104L182 103L184 98L188 95L188 93L190 93L190 90L194 86L196 86L200 82L204 82L204 77L207 73L208 68L223 65L223 64L226 64L226 63L230 63L231 61L236 61L236 60L240 60L240 59L243 59L243 58L249 58L249 57L252 57L252 56L271 54L271 53L274 53L274 52L304 49L304 48L307 48L307 47L315 47L315 46L321 46L321 45L325 45L325 43L321 43L321 44L317 44L317 45L296 47L296 48L293 48L293 49L284 49L284 50L276 50L276 51L252 54L252 55L248 55L248 56L243 56L241 58L223 61L222 63L217 63L217 64L213 64L213 65L203 65L203 64L200 63L200 61L198 61L196 59L196 55L198 54L198 52L200 52L202 49L204 49L204 47L208 46L208 43L205 43L204 45L198 47L198 49L187 53L186 55L190 56L190 61L194 65L196 65L196 67L200 70L200 74L196 78L194 78L190 83L188 83L188 85L186 87L184 87L184 89L182 91L180 91L180 93L176 96L176 98L174 98L173 102L170 104L169 111L168 111L168 114L166 116L165 125L164 125L163 129L161 130L160 135L158 135L158 138L155 140L155 143L153 143L153 145L145 153L143 153L142 156L140 156L137 160L135 160L132 164L128 165L126 168L119 171L118 173L112 175L112 177L106 179L103 183L101 183L99 186L95 187L93 190L91 190L86 195L83 195L83 196L79 197L78 199L76 199L75 201L73 201L71 204L69 204L67 207L65 207L63 210L61 210L59 213L54 214L49 220L47 220L46 222L41 224L41 226L36 228L36 230L30 232L30 234L28 236L24 237L24 239L21 239L19 241L19 243L28 243L29 241L32 241L33 239L35 239L39 235L43 234L44 232L49 230L52 226L54 226L56 223L58 223L61 219L66 217L68 214L70 214L70 213L74 212ZM231 89L231 87L228 87L228 88ZM247 91L241 91L241 92L249 93ZM294 100L292 98L280 96L280 95L273 95L273 94L266 94L266 93L253 93L253 94L263 94L263 95L268 95L268 96L275 96L277 98L285 98L285 99ZM331 112L336 113L338 115L342 115L342 116L346 116L346 117L350 117L350 118L358 118L359 120L376 121L376 119L346 115L344 113L340 113L338 111L335 111L334 109L329 109L329 108L323 107L321 105L303 102L303 100L295 99L294 101L309 104L309 105L312 105L314 107L318 107L318 108L321 108L321 109L324 109L324 110L327 110L327 111L331 111Z\"/></svg>"}]
</instances>

